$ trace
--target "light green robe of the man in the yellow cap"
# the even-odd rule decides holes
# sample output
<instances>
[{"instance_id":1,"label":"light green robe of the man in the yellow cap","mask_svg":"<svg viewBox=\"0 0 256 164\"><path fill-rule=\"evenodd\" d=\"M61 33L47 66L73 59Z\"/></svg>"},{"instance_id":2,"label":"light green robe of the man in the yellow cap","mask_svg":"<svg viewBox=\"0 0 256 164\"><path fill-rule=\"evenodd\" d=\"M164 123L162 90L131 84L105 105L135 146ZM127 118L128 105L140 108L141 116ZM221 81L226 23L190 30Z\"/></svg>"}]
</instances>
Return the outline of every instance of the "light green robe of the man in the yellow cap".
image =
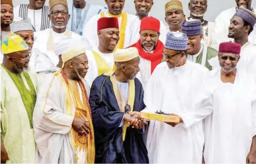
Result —
<instances>
[{"instance_id":1,"label":"light green robe of the man in the yellow cap","mask_svg":"<svg viewBox=\"0 0 256 164\"><path fill-rule=\"evenodd\" d=\"M32 126L36 92L36 73L13 74L1 65L1 138L10 159L7 163L36 161Z\"/></svg>"}]
</instances>

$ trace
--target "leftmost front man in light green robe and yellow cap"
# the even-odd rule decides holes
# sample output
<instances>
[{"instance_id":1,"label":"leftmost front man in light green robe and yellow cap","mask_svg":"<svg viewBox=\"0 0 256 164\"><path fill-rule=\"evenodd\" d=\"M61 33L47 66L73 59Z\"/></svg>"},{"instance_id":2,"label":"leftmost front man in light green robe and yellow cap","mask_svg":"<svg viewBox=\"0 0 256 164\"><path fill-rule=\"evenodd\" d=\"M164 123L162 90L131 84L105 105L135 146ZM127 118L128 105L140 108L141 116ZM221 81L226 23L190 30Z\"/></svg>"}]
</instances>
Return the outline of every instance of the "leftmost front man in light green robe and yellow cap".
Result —
<instances>
[{"instance_id":1,"label":"leftmost front man in light green robe and yellow cap","mask_svg":"<svg viewBox=\"0 0 256 164\"><path fill-rule=\"evenodd\" d=\"M35 163L32 114L37 98L37 75L25 68L29 47L11 33L1 42L1 163Z\"/></svg>"}]
</instances>

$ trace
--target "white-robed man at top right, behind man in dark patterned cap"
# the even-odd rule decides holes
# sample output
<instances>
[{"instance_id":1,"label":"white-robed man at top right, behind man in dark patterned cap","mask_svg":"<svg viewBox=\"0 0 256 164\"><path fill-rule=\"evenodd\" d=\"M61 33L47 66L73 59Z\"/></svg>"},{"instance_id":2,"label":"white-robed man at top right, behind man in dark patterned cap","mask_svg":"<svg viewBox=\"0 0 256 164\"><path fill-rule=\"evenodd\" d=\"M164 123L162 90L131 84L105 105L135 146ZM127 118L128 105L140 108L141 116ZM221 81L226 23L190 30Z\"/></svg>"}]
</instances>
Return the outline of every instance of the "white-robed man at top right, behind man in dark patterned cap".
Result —
<instances>
[{"instance_id":1,"label":"white-robed man at top right, behind man in dark patterned cap","mask_svg":"<svg viewBox=\"0 0 256 164\"><path fill-rule=\"evenodd\" d=\"M252 12L254 13L256 12L254 8L251 6L252 0L233 0L233 1L235 2L236 6L220 12L215 19L215 29L213 31L214 37L212 38L212 47L216 50L218 50L219 44L221 42L234 41L232 38L228 37L229 25L230 25L230 19L236 13L239 7L244 6L245 8L251 10ZM256 30L253 30L252 34L249 36L248 39L251 43L256 44Z\"/></svg>"}]
</instances>

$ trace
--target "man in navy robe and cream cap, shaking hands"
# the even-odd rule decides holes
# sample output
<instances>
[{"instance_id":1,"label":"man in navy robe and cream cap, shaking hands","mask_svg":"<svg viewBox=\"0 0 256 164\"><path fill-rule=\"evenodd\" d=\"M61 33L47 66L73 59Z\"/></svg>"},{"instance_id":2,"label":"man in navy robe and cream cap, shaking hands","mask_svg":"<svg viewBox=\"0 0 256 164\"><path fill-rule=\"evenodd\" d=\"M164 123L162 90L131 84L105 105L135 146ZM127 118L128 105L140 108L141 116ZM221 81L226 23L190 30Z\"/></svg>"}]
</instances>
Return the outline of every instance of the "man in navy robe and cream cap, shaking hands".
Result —
<instances>
[{"instance_id":1,"label":"man in navy robe and cream cap, shaking hands","mask_svg":"<svg viewBox=\"0 0 256 164\"><path fill-rule=\"evenodd\" d=\"M91 88L95 163L148 163L142 137L147 122L138 115L145 107L142 84L135 78L138 49L117 49L114 61L115 71L97 77Z\"/></svg>"}]
</instances>

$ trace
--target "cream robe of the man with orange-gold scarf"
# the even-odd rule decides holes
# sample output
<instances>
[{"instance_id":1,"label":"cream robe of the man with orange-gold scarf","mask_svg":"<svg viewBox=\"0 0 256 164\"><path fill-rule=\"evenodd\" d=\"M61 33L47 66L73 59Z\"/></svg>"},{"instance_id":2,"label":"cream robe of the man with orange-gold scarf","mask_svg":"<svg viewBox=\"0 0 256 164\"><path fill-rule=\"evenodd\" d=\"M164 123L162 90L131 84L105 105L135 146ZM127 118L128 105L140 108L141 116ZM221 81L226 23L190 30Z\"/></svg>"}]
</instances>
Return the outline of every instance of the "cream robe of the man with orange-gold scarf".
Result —
<instances>
[{"instance_id":1,"label":"cream robe of the man with orange-gold scarf","mask_svg":"<svg viewBox=\"0 0 256 164\"><path fill-rule=\"evenodd\" d=\"M36 163L74 163L70 130L76 107L72 100L72 116L67 115L65 90L60 79L52 80L53 74L41 85L33 113L37 143ZM89 94L89 85L84 85ZM78 157L82 160L84 154L78 152Z\"/></svg>"}]
</instances>

